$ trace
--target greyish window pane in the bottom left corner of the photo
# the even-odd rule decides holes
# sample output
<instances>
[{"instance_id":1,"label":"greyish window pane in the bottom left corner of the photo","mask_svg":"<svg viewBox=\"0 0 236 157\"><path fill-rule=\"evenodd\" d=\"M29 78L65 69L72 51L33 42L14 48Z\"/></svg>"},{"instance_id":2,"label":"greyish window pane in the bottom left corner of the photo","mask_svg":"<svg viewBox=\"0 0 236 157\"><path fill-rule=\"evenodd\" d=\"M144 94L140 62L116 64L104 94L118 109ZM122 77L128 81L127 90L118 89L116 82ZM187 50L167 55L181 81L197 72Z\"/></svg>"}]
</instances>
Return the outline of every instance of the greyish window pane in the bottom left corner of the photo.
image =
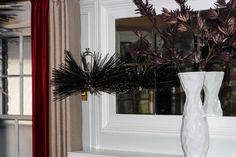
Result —
<instances>
[{"instance_id":1,"label":"greyish window pane in the bottom left corner of the photo","mask_svg":"<svg viewBox=\"0 0 236 157\"><path fill-rule=\"evenodd\" d=\"M14 121L0 120L0 157L16 156L16 133Z\"/></svg>"}]
</instances>

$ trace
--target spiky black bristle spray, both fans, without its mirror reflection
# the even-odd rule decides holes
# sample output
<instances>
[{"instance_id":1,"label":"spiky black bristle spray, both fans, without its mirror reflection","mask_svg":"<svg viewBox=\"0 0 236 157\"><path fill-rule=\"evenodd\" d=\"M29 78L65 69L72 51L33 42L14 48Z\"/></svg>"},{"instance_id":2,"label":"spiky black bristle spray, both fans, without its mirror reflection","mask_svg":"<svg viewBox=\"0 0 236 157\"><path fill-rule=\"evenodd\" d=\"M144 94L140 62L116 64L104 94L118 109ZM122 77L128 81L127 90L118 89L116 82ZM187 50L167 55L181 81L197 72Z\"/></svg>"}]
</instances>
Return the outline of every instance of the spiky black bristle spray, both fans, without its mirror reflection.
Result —
<instances>
[{"instance_id":1,"label":"spiky black bristle spray, both fans, without its mirror reflection","mask_svg":"<svg viewBox=\"0 0 236 157\"><path fill-rule=\"evenodd\" d=\"M81 55L82 65L76 63L71 53L65 51L65 63L53 70L52 85L55 87L55 99L62 100L81 91L91 93L121 93L130 90L130 67L124 65L120 58L101 53L93 53L91 67L86 56Z\"/></svg>"}]
</instances>

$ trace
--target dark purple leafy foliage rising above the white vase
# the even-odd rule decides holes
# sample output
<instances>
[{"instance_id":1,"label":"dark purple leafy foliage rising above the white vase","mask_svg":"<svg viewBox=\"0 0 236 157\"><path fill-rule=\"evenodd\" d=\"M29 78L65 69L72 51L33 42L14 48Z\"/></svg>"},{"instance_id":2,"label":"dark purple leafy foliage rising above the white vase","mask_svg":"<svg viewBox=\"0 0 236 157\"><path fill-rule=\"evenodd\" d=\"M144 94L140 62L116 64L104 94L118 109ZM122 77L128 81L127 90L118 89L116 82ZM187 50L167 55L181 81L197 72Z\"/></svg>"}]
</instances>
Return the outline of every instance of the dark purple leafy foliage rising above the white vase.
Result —
<instances>
[{"instance_id":1,"label":"dark purple leafy foliage rising above the white vase","mask_svg":"<svg viewBox=\"0 0 236 157\"><path fill-rule=\"evenodd\" d=\"M166 29L159 30L156 23L156 12L152 4L146 0L133 0L137 6L137 13L147 16L159 35L163 40L161 52L153 51L151 44L145 42L142 36L136 42L136 48L132 48L138 55L151 54L155 64L175 64L184 66L192 62L199 65L200 70L204 70L208 63L218 60L222 64L229 64L235 57L236 52L236 18L231 14L236 8L236 0L217 0L216 9L210 8L207 14L196 12L186 4L187 0L175 0L179 5L179 9L169 10L162 9L161 17L166 24ZM195 50L184 53L183 50L176 48L177 38L181 33L191 33L195 42ZM141 42L142 41L142 42ZM139 43L139 44L138 44ZM143 46L140 46L140 43ZM146 45L146 46L145 46ZM207 48L207 54L202 57L202 49ZM145 51L143 51L145 49ZM148 52L152 51L152 53ZM155 52L155 53L153 53Z\"/></svg>"}]
</instances>

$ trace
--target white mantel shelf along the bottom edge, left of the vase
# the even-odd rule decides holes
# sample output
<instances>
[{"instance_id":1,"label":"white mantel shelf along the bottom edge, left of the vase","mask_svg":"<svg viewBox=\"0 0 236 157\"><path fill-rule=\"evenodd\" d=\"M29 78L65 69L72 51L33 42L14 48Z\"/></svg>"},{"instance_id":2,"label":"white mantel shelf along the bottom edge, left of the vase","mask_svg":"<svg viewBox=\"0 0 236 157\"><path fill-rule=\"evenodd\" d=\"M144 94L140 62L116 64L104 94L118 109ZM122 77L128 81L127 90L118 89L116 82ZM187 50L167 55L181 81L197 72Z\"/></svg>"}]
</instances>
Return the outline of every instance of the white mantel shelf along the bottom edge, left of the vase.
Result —
<instances>
[{"instance_id":1,"label":"white mantel shelf along the bottom edge, left of the vase","mask_svg":"<svg viewBox=\"0 0 236 157\"><path fill-rule=\"evenodd\" d=\"M91 150L91 151L69 152L68 157L183 157L183 156L143 153L143 152L115 151L115 150Z\"/></svg>"}]
</instances>

